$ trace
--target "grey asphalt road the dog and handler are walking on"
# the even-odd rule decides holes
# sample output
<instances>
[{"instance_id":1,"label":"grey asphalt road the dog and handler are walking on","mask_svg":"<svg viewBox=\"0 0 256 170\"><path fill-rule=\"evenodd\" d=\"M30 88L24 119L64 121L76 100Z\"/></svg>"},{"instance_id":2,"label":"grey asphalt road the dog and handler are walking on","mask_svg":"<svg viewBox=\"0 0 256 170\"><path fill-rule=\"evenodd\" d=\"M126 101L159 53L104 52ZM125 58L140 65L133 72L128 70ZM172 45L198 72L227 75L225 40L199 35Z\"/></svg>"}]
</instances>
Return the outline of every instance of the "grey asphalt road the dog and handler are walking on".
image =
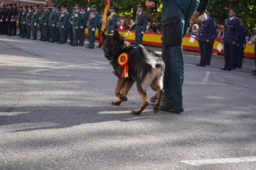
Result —
<instances>
[{"instance_id":1,"label":"grey asphalt road the dog and handler are walking on","mask_svg":"<svg viewBox=\"0 0 256 170\"><path fill-rule=\"evenodd\" d=\"M135 116L135 86L110 104L102 49L0 36L0 169L255 169L254 60L221 71L222 56L184 54L184 113Z\"/></svg>"}]
</instances>

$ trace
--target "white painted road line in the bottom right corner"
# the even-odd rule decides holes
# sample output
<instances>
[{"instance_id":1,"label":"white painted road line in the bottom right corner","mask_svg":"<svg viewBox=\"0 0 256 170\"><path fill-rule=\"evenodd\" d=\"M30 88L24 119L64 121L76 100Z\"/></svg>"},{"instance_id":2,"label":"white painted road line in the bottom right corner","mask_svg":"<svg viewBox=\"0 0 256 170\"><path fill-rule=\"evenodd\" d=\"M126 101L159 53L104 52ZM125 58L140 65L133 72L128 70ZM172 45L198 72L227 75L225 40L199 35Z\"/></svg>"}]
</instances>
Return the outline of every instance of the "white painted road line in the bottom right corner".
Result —
<instances>
[{"instance_id":1,"label":"white painted road line in the bottom right corner","mask_svg":"<svg viewBox=\"0 0 256 170\"><path fill-rule=\"evenodd\" d=\"M222 163L242 163L242 162L255 162L256 156L247 156L240 158L218 158L218 159L205 159L205 160L190 160L181 161L182 163L191 164L193 166L200 166L204 164L222 164Z\"/></svg>"}]
</instances>

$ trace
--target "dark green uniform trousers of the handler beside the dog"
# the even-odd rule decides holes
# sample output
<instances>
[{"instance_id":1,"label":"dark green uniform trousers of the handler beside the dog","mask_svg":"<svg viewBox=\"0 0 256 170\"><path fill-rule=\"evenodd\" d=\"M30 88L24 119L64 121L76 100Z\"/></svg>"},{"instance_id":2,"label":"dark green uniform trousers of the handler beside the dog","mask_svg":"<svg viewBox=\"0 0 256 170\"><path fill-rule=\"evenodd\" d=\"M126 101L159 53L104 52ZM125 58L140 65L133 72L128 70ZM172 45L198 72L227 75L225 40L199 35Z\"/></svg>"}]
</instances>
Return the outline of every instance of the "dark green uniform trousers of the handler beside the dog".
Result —
<instances>
[{"instance_id":1,"label":"dark green uniform trousers of the handler beside the dog","mask_svg":"<svg viewBox=\"0 0 256 170\"><path fill-rule=\"evenodd\" d=\"M164 72L164 99L174 105L182 105L182 84L184 80L182 39L198 5L198 0L163 1L162 58L166 66Z\"/></svg>"}]
</instances>

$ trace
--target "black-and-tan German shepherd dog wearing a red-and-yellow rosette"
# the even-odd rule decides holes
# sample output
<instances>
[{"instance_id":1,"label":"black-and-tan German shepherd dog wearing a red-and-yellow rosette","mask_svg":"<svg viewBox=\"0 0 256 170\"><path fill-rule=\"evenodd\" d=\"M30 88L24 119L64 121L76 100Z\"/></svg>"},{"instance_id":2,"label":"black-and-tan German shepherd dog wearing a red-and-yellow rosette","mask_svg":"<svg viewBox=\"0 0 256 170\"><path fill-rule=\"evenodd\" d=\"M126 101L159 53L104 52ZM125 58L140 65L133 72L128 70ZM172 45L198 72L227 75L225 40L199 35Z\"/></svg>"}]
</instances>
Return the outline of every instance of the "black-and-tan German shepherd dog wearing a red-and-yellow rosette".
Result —
<instances>
[{"instance_id":1,"label":"black-and-tan German shepherd dog wearing a red-and-yellow rosette","mask_svg":"<svg viewBox=\"0 0 256 170\"><path fill-rule=\"evenodd\" d=\"M142 97L142 105L138 110L132 110L131 113L133 115L140 115L148 106L148 85L158 94L154 105L154 112L157 113L164 93L163 75L165 66L161 56L156 54L156 52L145 49L142 45L132 46L129 42L125 41L125 38L117 30L114 31L114 34L106 34L104 31L101 31L101 34L103 36L105 57L113 66L114 75L118 77L114 94L119 99L111 103L113 105L120 105L122 102L127 102L127 94L132 84L137 81L137 89L140 97ZM118 65L118 57L122 52L129 54L129 77L127 78L121 78L123 68Z\"/></svg>"}]
</instances>

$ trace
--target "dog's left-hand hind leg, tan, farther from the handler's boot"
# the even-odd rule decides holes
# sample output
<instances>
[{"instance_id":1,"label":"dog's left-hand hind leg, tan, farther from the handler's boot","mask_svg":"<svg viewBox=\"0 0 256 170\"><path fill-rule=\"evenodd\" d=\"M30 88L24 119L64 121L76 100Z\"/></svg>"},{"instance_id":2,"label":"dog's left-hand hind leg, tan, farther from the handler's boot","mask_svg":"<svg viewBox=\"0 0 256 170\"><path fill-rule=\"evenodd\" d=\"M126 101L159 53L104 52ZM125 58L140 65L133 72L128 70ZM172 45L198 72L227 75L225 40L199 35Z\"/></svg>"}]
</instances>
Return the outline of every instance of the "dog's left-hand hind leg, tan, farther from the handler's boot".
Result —
<instances>
[{"instance_id":1,"label":"dog's left-hand hind leg, tan, farther from the handler's boot","mask_svg":"<svg viewBox=\"0 0 256 170\"><path fill-rule=\"evenodd\" d=\"M137 82L137 89L140 97L142 97L142 106L138 110L130 111L132 115L140 115L140 113L142 113L142 111L149 105L147 98L147 86L142 86L142 84Z\"/></svg>"}]
</instances>

